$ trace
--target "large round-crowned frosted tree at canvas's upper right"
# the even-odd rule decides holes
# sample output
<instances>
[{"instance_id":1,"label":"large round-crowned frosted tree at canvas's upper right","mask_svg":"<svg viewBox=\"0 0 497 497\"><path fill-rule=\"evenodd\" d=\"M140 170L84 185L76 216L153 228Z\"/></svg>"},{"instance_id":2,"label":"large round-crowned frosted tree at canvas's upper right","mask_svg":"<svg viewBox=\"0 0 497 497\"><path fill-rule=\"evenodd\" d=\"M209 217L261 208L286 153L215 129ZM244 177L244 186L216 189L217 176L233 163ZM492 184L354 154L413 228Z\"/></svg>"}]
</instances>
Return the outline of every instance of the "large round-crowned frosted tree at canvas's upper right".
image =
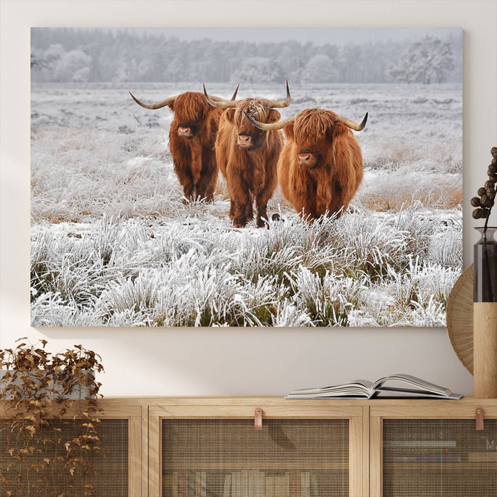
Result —
<instances>
[{"instance_id":1,"label":"large round-crowned frosted tree at canvas's upper right","mask_svg":"<svg viewBox=\"0 0 497 497\"><path fill-rule=\"evenodd\" d=\"M404 52L398 66L389 69L389 75L403 83L442 83L453 69L454 59L449 41L425 37Z\"/></svg>"}]
</instances>

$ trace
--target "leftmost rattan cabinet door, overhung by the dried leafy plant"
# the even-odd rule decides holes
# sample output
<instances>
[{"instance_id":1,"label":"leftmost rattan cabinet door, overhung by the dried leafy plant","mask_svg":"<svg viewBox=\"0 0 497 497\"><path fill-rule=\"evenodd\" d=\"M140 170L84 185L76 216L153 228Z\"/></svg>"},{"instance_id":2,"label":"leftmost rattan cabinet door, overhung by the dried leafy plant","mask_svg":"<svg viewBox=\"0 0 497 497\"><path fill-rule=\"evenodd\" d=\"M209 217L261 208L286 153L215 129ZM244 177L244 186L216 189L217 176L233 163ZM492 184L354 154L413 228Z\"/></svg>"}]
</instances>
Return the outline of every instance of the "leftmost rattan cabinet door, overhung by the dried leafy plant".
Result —
<instances>
[{"instance_id":1,"label":"leftmost rattan cabinet door, overhung by the dried leafy plant","mask_svg":"<svg viewBox=\"0 0 497 497\"><path fill-rule=\"evenodd\" d=\"M142 481L142 407L100 405L104 413L98 416L99 422L94 421L99 449L88 458L88 453L75 447L72 457L84 457L75 471L70 471L64 457L65 442L85 436L86 427L69 417L70 413L68 418L43 420L31 442L10 429L10 420L0 418L1 495L142 497L142 487L146 487ZM18 449L24 451L21 462L15 458Z\"/></svg>"}]
</instances>

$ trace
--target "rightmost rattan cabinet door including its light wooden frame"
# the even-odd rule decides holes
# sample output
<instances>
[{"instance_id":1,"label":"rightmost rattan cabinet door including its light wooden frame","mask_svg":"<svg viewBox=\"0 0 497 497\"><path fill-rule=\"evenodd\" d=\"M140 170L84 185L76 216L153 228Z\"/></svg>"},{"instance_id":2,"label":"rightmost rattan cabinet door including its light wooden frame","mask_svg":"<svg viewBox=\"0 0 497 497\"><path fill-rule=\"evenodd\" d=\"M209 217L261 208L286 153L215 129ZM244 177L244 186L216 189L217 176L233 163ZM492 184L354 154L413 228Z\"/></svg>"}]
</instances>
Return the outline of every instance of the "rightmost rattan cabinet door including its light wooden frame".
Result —
<instances>
[{"instance_id":1,"label":"rightmost rattan cabinet door including its light wooden frame","mask_svg":"<svg viewBox=\"0 0 497 497\"><path fill-rule=\"evenodd\" d=\"M469 402L371 416L371 497L497 497L497 401L483 402L483 431Z\"/></svg>"}]
</instances>

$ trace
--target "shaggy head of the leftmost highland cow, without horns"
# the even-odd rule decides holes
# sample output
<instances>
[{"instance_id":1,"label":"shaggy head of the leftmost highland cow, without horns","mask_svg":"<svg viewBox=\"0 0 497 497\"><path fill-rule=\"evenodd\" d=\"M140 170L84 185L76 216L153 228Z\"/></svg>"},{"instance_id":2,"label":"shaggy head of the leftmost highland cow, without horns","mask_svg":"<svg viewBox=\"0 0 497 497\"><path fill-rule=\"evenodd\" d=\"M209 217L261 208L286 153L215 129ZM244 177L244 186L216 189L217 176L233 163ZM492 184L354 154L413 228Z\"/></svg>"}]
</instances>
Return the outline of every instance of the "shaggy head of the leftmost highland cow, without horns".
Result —
<instances>
[{"instance_id":1,"label":"shaggy head of the leftmost highland cow, without horns","mask_svg":"<svg viewBox=\"0 0 497 497\"><path fill-rule=\"evenodd\" d=\"M175 101L169 104L169 108L175 113L171 127L184 139L192 139L201 133L207 114L213 110L204 95L196 92L178 95Z\"/></svg>"}]
</instances>

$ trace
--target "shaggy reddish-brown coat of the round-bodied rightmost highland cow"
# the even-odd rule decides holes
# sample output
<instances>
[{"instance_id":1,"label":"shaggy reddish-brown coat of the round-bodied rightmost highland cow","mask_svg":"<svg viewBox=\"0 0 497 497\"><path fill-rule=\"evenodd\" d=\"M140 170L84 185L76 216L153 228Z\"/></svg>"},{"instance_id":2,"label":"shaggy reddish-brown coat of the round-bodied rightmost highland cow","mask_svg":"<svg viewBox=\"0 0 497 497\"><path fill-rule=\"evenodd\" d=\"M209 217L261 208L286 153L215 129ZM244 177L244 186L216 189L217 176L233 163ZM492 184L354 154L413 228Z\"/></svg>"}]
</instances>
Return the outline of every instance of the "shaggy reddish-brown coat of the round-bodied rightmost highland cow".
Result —
<instances>
[{"instance_id":1,"label":"shaggy reddish-brown coat of the round-bodied rightmost highland cow","mask_svg":"<svg viewBox=\"0 0 497 497\"><path fill-rule=\"evenodd\" d=\"M333 124L331 110L306 109L284 126L286 144L277 163L280 188L295 210L315 219L341 215L362 181L362 155L352 131ZM299 163L309 155L309 164Z\"/></svg>"}]
</instances>

